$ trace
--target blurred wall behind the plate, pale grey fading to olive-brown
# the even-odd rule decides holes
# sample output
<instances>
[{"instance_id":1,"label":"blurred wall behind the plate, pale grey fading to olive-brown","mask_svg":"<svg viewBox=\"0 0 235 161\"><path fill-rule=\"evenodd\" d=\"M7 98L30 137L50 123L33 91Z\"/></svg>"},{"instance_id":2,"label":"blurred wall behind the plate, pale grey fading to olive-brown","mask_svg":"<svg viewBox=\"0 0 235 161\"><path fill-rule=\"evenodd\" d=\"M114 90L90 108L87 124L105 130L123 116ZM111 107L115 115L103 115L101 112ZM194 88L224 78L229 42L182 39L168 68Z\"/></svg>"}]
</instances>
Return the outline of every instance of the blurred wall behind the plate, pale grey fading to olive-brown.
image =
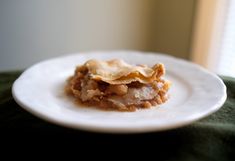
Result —
<instances>
[{"instance_id":1,"label":"blurred wall behind the plate, pale grey fading to olive-brown","mask_svg":"<svg viewBox=\"0 0 235 161\"><path fill-rule=\"evenodd\" d=\"M1 0L0 70L58 55L142 50L189 58L196 0Z\"/></svg>"}]
</instances>

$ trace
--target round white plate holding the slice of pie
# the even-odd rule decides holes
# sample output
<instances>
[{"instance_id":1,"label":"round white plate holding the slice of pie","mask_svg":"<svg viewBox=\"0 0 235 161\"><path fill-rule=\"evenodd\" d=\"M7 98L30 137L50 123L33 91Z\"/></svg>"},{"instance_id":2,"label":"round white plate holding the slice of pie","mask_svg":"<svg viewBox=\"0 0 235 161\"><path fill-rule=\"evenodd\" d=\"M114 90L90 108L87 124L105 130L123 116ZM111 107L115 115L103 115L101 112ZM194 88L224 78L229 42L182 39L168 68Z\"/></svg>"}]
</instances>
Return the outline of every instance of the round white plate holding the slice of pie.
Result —
<instances>
[{"instance_id":1,"label":"round white plate holding the slice of pie","mask_svg":"<svg viewBox=\"0 0 235 161\"><path fill-rule=\"evenodd\" d=\"M86 60L121 58L131 64L165 64L172 82L167 103L136 112L102 111L75 105L64 94L66 79ZM40 62L27 69L12 88L16 102L50 122L89 131L135 133L187 125L218 110L226 99L222 80L190 62L157 53L134 51L73 54Z\"/></svg>"}]
</instances>

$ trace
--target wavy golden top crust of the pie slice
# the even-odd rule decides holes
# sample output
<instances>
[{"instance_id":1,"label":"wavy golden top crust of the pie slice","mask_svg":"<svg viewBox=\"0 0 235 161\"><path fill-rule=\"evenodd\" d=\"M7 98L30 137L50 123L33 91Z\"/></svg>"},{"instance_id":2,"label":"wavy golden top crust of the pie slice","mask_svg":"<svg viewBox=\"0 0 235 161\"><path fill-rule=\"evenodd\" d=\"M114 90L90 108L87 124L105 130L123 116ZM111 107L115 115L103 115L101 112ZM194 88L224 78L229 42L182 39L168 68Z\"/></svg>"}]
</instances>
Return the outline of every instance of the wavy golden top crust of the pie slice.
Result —
<instances>
[{"instance_id":1,"label":"wavy golden top crust of the pie slice","mask_svg":"<svg viewBox=\"0 0 235 161\"><path fill-rule=\"evenodd\" d=\"M123 60L109 61L89 60L84 64L94 80L101 80L109 84L128 84L139 81L151 83L164 73L163 64L156 64L152 68L147 66L131 66Z\"/></svg>"}]
</instances>

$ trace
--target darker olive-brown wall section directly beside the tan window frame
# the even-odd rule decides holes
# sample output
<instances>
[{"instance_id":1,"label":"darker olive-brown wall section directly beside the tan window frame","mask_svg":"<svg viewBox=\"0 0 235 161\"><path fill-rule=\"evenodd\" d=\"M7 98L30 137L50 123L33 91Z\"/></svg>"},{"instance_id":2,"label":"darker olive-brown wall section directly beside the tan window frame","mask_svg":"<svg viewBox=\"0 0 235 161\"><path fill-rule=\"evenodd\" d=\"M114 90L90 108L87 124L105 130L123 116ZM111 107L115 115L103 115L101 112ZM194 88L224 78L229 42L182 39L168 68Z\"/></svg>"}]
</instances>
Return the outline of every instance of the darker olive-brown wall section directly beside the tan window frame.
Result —
<instances>
[{"instance_id":1,"label":"darker olive-brown wall section directly beside the tan window frame","mask_svg":"<svg viewBox=\"0 0 235 161\"><path fill-rule=\"evenodd\" d=\"M153 0L150 49L189 58L195 0Z\"/></svg>"}]
</instances>

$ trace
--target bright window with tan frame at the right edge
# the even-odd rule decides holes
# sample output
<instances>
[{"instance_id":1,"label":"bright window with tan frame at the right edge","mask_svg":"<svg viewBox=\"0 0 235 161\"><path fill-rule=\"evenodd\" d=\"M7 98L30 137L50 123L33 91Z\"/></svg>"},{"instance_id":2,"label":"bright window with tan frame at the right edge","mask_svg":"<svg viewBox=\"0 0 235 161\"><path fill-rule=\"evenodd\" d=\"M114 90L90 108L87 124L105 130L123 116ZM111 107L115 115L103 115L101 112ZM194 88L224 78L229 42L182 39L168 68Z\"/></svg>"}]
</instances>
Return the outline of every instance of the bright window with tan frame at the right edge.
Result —
<instances>
[{"instance_id":1,"label":"bright window with tan frame at the right edge","mask_svg":"<svg viewBox=\"0 0 235 161\"><path fill-rule=\"evenodd\" d=\"M191 60L235 77L235 1L197 1Z\"/></svg>"}]
</instances>

